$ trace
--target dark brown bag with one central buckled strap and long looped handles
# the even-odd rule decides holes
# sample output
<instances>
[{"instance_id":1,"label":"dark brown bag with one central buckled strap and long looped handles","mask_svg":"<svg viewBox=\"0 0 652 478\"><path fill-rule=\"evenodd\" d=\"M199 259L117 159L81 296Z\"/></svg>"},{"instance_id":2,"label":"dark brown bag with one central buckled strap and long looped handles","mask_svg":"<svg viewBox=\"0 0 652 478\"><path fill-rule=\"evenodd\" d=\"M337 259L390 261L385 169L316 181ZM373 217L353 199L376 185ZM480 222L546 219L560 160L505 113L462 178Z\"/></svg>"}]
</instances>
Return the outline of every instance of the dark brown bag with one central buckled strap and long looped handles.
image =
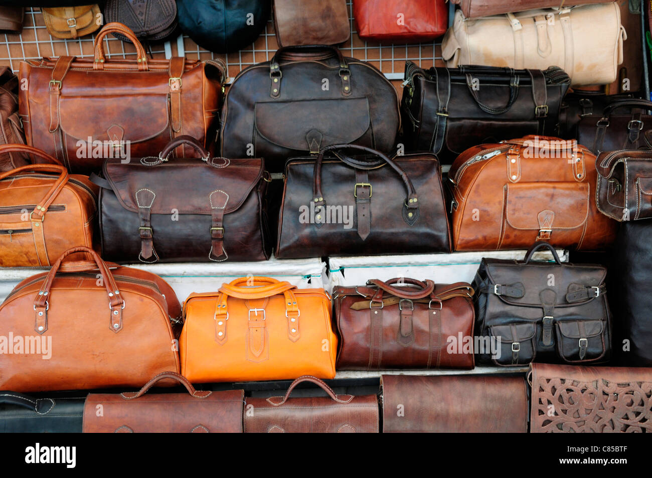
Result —
<instances>
[{"instance_id":1,"label":"dark brown bag with one central buckled strap and long looped handles","mask_svg":"<svg viewBox=\"0 0 652 478\"><path fill-rule=\"evenodd\" d=\"M347 157L344 149L372 157ZM324 159L333 151L335 157ZM286 165L276 258L449 252L437 158L336 144ZM354 213L355 209L355 213Z\"/></svg>"}]
</instances>

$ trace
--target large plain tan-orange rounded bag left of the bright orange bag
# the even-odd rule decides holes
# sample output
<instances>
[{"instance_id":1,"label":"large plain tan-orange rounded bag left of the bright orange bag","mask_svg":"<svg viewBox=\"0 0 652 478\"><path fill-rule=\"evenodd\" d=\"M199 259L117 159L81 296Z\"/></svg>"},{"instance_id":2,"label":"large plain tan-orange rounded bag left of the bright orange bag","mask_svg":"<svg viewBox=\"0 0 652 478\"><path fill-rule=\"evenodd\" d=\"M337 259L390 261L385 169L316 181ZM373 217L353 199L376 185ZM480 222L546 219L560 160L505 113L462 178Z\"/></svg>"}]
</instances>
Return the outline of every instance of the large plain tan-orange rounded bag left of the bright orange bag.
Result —
<instances>
[{"instance_id":1,"label":"large plain tan-orange rounded bag left of the bright orange bag","mask_svg":"<svg viewBox=\"0 0 652 478\"><path fill-rule=\"evenodd\" d=\"M63 263L76 252L93 261ZM159 276L105 263L89 247L70 248L0 305L0 389L138 387L178 372L173 325L180 315Z\"/></svg>"}]
</instances>

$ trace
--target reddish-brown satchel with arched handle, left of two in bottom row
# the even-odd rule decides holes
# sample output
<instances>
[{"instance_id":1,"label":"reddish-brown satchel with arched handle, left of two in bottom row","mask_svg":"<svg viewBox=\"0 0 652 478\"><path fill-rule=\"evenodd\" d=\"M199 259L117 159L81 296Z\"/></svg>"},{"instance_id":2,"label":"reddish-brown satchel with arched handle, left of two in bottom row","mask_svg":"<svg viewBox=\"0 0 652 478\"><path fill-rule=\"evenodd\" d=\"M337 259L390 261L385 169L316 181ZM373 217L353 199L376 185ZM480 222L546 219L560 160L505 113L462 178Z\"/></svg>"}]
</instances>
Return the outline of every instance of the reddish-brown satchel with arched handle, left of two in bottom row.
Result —
<instances>
[{"instance_id":1,"label":"reddish-brown satchel with arched handle, left of two in bottom row","mask_svg":"<svg viewBox=\"0 0 652 478\"><path fill-rule=\"evenodd\" d=\"M183 385L188 393L147 394L166 379ZM243 390L195 390L183 376L162 372L138 392L89 394L83 408L83 432L242 433L243 403Z\"/></svg>"}]
</instances>

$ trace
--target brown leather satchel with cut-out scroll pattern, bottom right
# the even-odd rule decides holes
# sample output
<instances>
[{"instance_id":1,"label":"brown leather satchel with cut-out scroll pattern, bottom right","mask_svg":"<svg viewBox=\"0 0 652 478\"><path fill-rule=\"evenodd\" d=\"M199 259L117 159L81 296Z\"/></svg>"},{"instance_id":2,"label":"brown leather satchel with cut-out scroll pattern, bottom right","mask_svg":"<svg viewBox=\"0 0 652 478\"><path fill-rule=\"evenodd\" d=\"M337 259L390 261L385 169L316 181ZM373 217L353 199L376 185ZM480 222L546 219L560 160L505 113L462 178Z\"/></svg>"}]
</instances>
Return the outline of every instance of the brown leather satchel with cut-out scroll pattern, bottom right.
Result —
<instances>
[{"instance_id":1,"label":"brown leather satchel with cut-out scroll pattern, bottom right","mask_svg":"<svg viewBox=\"0 0 652 478\"><path fill-rule=\"evenodd\" d=\"M652 432L652 368L532 364L531 433Z\"/></svg>"}]
</instances>

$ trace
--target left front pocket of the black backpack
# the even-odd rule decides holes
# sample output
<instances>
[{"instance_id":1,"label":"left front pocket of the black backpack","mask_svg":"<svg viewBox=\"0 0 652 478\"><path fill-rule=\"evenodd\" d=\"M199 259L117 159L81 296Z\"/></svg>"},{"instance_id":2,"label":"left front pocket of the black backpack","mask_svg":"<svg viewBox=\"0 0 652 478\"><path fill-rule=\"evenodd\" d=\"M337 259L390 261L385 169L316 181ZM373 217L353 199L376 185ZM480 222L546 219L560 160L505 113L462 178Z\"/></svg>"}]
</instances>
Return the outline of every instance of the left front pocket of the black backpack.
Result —
<instances>
[{"instance_id":1,"label":"left front pocket of the black backpack","mask_svg":"<svg viewBox=\"0 0 652 478\"><path fill-rule=\"evenodd\" d=\"M497 342L497 352L492 356L496 365L527 365L537 355L535 335L537 324L534 322L516 322L489 327L492 340Z\"/></svg>"}]
</instances>

